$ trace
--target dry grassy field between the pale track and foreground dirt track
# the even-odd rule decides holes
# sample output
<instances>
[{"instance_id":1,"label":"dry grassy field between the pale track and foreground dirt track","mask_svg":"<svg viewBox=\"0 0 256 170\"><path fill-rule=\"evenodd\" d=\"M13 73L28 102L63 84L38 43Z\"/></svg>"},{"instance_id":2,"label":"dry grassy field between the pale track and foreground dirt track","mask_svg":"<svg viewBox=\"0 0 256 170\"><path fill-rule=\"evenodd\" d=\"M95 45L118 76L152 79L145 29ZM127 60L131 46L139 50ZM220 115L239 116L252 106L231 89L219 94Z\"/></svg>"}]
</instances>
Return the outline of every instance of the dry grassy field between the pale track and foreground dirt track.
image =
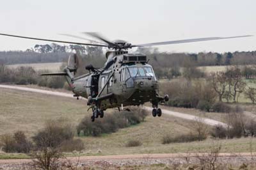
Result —
<instances>
[{"instance_id":1,"label":"dry grassy field between the pale track and foreground dirt track","mask_svg":"<svg viewBox=\"0 0 256 170\"><path fill-rule=\"evenodd\" d=\"M90 114L87 112L86 102L84 100L77 101L76 98L61 98L11 89L0 89L0 93L0 134L12 134L16 130L24 130L27 135L32 136L44 126L46 120L50 119L68 120L75 128L84 115ZM191 123L191 121L167 115L163 115L161 118L147 116L145 122L123 128L113 134L104 134L101 137L80 137L86 146L83 155L197 153L209 151L209 148L216 144L221 144L221 152L233 153L248 152L250 144L253 146L256 144L256 140L250 138L215 140L211 137L202 142L161 144L161 139L166 134L175 136L191 132ZM127 141L131 139L140 140L142 145L132 148L125 147ZM252 148L252 151L256 151L256 148ZM72 155L71 153L67 154ZM0 157L27 156L3 153L0 154Z\"/></svg>"}]
</instances>

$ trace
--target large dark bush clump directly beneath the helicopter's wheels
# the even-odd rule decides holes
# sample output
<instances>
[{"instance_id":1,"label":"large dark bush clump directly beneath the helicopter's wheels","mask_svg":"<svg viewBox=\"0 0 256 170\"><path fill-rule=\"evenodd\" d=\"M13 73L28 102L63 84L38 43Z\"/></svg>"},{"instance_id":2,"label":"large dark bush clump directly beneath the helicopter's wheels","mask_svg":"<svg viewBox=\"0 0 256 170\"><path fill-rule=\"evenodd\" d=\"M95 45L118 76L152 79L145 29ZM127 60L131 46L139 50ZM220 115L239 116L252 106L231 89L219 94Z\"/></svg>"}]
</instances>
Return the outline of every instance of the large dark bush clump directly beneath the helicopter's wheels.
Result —
<instances>
[{"instance_id":1,"label":"large dark bush clump directly beneath the helicopter's wheels","mask_svg":"<svg viewBox=\"0 0 256 170\"><path fill-rule=\"evenodd\" d=\"M147 112L135 107L129 111L113 112L104 119L92 122L90 116L86 116L77 126L77 134L83 132L84 135L99 136L100 134L109 134L116 132L118 128L125 128L136 125L144 121Z\"/></svg>"}]
</instances>

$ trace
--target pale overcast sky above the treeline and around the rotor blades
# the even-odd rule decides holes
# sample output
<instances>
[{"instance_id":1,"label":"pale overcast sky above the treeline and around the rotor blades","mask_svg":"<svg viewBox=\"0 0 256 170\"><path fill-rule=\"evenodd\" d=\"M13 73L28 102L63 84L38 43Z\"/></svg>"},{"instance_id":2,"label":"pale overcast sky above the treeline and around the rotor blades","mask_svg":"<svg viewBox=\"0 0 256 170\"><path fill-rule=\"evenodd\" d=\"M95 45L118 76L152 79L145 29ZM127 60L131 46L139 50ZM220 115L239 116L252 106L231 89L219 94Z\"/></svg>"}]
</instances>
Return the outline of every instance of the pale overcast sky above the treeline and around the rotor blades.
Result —
<instances>
[{"instance_id":1,"label":"pale overcast sky above the treeline and around the rotor blades","mask_svg":"<svg viewBox=\"0 0 256 170\"><path fill-rule=\"evenodd\" d=\"M58 35L99 32L110 40L151 43L209 36L256 35L254 0L3 0L0 33L57 40ZM36 43L0 36L0 50L26 50ZM168 52L256 50L256 36L164 45Z\"/></svg>"}]
</instances>

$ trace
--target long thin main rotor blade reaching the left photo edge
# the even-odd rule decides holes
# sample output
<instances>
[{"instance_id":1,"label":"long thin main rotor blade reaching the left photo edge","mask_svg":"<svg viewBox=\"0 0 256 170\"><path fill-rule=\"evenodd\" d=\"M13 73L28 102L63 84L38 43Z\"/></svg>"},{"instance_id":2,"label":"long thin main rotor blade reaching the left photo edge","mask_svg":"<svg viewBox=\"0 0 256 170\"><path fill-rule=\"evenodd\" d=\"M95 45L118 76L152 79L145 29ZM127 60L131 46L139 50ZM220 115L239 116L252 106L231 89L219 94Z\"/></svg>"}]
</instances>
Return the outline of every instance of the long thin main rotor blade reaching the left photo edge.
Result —
<instances>
[{"instance_id":1,"label":"long thin main rotor blade reaching the left photo edge","mask_svg":"<svg viewBox=\"0 0 256 170\"><path fill-rule=\"evenodd\" d=\"M33 38L33 37L29 37L29 36L7 35L7 34L2 34L2 33L0 33L0 35L12 36L12 37L17 37L17 38L25 38L25 39L31 39L31 40L40 40L40 41L46 41L46 42L60 42L60 43L71 43L71 44L77 44L77 45L91 45L91 46L99 46L99 47L108 47L108 45L100 45L100 44L94 44L94 43L66 42L66 41L61 41L61 40L49 40L49 39L44 39L44 38Z\"/></svg>"}]
</instances>

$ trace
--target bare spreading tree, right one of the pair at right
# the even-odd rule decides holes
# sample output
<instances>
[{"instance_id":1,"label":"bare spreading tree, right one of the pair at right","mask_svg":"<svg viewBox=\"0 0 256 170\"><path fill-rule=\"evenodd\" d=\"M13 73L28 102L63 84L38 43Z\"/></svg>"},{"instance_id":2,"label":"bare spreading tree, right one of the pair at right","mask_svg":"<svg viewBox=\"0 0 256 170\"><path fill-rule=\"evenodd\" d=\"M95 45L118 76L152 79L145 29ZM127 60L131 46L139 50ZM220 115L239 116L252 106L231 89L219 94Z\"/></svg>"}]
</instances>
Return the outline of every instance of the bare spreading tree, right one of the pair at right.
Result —
<instances>
[{"instance_id":1,"label":"bare spreading tree, right one of the pair at right","mask_svg":"<svg viewBox=\"0 0 256 170\"><path fill-rule=\"evenodd\" d=\"M228 81L228 92L233 97L233 102L238 101L239 93L242 93L246 87L240 68L232 67L225 72Z\"/></svg>"}]
</instances>

